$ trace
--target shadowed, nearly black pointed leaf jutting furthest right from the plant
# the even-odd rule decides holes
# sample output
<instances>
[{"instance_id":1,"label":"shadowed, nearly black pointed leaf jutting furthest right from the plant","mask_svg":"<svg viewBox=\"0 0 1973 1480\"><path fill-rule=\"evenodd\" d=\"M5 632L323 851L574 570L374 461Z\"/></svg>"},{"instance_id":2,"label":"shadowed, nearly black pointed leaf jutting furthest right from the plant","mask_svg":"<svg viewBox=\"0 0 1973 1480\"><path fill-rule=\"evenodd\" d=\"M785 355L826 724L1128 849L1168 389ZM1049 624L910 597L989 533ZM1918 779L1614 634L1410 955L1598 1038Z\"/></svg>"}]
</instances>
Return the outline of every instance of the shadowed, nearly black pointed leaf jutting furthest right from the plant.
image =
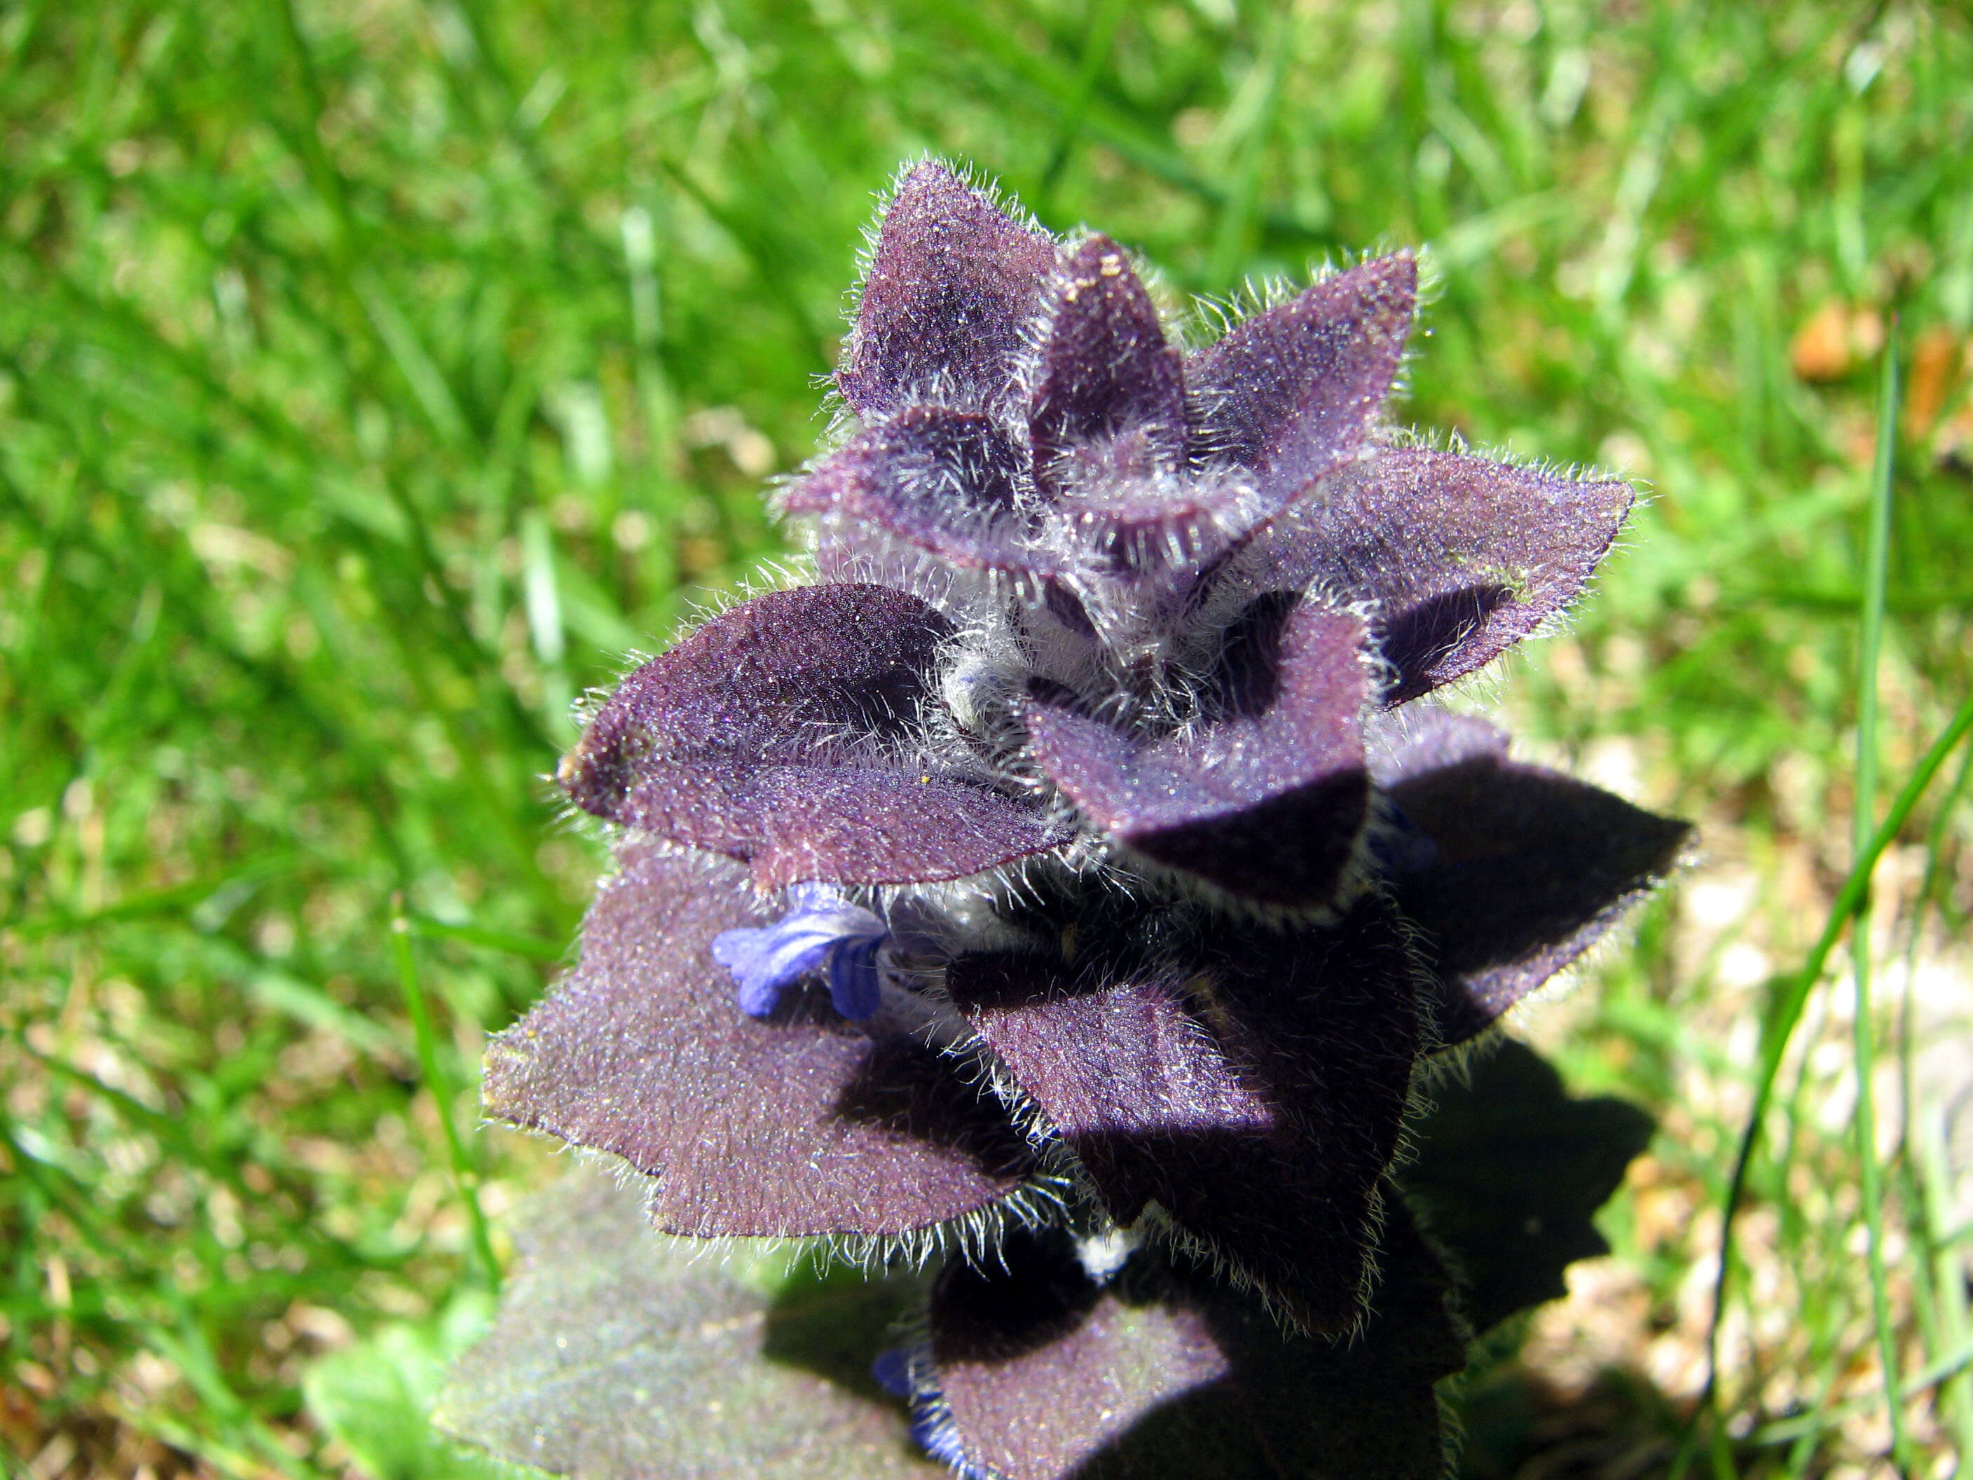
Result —
<instances>
[{"instance_id":1,"label":"shadowed, nearly black pointed leaf jutting furthest right from the plant","mask_svg":"<svg viewBox=\"0 0 1973 1480\"><path fill-rule=\"evenodd\" d=\"M1484 720L1428 704L1379 726L1373 774L1430 839L1393 876L1440 975L1438 1034L1482 1032L1574 961L1677 862L1687 823L1507 760Z\"/></svg>"}]
</instances>

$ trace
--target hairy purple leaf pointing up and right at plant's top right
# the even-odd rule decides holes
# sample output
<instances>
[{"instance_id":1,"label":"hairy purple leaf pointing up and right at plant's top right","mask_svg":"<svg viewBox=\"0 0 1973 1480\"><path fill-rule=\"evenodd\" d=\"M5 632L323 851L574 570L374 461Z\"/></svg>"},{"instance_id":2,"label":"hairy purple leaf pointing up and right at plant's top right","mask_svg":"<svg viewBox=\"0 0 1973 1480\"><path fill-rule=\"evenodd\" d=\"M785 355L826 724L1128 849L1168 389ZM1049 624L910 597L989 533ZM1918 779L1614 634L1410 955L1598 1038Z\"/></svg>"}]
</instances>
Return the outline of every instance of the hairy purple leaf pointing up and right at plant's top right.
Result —
<instances>
[{"instance_id":1,"label":"hairy purple leaf pointing up and right at plant's top right","mask_svg":"<svg viewBox=\"0 0 1973 1480\"><path fill-rule=\"evenodd\" d=\"M1257 474L1280 507L1355 456L1411 333L1419 264L1379 257L1239 324L1196 355L1186 381L1202 408L1194 462Z\"/></svg>"}]
</instances>

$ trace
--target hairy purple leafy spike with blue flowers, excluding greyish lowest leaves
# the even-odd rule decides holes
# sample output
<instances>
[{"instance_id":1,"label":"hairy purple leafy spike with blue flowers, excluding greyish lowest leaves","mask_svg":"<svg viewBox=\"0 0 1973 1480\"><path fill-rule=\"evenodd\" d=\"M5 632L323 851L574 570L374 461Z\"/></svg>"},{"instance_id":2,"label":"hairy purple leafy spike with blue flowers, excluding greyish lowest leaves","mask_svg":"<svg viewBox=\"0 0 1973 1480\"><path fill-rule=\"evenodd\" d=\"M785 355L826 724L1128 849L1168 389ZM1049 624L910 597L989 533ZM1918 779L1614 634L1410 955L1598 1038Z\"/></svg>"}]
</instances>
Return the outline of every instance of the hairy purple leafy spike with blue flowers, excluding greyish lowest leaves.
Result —
<instances>
[{"instance_id":1,"label":"hairy purple leafy spike with blue flowers, excluding greyish lowest leaves","mask_svg":"<svg viewBox=\"0 0 1973 1480\"><path fill-rule=\"evenodd\" d=\"M1417 284L1367 259L1188 347L1111 239L910 168L777 491L813 578L560 764L616 872L487 1113L621 1158L665 1233L931 1261L872 1356L965 1476L1436 1470L1472 1312L1407 1115L1683 845L1432 703L1634 491L1395 426ZM1432 1458L1352 1448L1352 1362Z\"/></svg>"}]
</instances>

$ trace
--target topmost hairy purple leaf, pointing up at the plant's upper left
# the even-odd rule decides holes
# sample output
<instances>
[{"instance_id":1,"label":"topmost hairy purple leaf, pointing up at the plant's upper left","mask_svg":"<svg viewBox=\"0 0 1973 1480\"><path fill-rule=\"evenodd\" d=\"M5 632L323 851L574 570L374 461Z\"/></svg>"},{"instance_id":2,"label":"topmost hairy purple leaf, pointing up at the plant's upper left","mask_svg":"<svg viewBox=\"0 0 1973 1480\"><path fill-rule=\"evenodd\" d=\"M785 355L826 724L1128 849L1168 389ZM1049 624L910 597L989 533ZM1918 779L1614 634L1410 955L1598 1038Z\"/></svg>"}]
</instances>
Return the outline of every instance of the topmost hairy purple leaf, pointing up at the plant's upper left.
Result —
<instances>
[{"instance_id":1,"label":"topmost hairy purple leaf, pointing up at the plant's upper left","mask_svg":"<svg viewBox=\"0 0 1973 1480\"><path fill-rule=\"evenodd\" d=\"M1060 270L1056 243L947 166L912 170L878 229L837 387L866 420L912 403L988 410L1014 393Z\"/></svg>"}]
</instances>

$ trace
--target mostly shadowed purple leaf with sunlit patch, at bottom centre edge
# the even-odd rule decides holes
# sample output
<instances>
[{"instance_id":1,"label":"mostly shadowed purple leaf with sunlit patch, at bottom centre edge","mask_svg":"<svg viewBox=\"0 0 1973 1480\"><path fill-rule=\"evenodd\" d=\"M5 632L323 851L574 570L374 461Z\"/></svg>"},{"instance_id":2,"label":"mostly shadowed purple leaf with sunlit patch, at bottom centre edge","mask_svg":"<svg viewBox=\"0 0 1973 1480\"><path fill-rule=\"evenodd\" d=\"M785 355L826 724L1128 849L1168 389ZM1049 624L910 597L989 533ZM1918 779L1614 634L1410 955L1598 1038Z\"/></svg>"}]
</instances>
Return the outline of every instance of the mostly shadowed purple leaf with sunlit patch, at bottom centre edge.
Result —
<instances>
[{"instance_id":1,"label":"mostly shadowed purple leaf with sunlit patch, at bottom centre edge","mask_svg":"<svg viewBox=\"0 0 1973 1480\"><path fill-rule=\"evenodd\" d=\"M1438 1480L1432 1383L1466 1362L1446 1277L1405 1210L1352 1342L1156 1261L1111 1289L1061 1249L951 1267L927 1373L957 1458L1006 1480Z\"/></svg>"}]
</instances>

